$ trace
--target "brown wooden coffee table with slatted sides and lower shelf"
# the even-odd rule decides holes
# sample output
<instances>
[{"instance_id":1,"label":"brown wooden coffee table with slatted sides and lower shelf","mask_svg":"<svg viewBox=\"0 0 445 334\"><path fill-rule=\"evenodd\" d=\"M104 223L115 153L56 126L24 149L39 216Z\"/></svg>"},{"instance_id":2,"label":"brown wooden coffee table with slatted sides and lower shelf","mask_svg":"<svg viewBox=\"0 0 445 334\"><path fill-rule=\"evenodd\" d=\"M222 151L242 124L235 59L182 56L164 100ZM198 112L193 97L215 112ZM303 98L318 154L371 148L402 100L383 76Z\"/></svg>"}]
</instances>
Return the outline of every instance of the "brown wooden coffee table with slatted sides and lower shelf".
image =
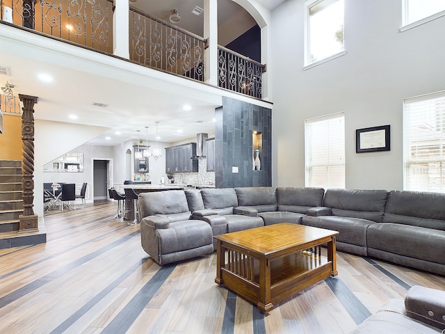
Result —
<instances>
[{"instance_id":1,"label":"brown wooden coffee table with slatted sides and lower shelf","mask_svg":"<svg viewBox=\"0 0 445 334\"><path fill-rule=\"evenodd\" d=\"M273 305L337 276L337 231L293 223L221 234L215 282L268 312ZM321 245L327 244L327 257Z\"/></svg>"}]
</instances>

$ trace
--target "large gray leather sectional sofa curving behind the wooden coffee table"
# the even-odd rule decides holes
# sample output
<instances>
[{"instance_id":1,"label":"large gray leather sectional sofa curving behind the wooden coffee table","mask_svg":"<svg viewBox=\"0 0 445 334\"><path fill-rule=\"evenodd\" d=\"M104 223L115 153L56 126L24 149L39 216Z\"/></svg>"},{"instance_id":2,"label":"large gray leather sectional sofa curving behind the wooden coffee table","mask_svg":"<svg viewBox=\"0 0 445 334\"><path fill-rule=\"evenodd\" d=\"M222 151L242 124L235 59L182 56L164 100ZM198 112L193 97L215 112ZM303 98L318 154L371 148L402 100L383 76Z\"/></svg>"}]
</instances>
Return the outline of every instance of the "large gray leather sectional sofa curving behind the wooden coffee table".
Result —
<instances>
[{"instance_id":1,"label":"large gray leather sectional sofa curving behind the wooden coffee table","mask_svg":"<svg viewBox=\"0 0 445 334\"><path fill-rule=\"evenodd\" d=\"M337 250L445 276L442 193L291 187L177 192L181 196L162 191L154 202L148 197L156 195L143 193L138 200L143 248L160 264L208 254L218 234L292 222L339 231ZM189 221L196 228L179 234ZM190 243L200 231L205 241Z\"/></svg>"}]
</instances>

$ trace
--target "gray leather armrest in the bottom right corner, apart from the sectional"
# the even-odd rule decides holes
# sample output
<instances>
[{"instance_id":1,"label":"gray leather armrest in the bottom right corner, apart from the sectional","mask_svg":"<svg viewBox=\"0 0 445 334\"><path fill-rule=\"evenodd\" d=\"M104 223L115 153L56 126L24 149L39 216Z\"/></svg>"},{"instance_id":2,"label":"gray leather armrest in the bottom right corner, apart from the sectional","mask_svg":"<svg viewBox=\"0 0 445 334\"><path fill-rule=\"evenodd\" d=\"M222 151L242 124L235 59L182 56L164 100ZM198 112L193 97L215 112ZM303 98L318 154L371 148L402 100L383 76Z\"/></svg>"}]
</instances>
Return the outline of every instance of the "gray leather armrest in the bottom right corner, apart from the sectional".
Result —
<instances>
[{"instance_id":1,"label":"gray leather armrest in the bottom right corner, apart from the sectional","mask_svg":"<svg viewBox=\"0 0 445 334\"><path fill-rule=\"evenodd\" d=\"M414 285L405 296L405 313L436 328L445 328L445 291Z\"/></svg>"}]
</instances>

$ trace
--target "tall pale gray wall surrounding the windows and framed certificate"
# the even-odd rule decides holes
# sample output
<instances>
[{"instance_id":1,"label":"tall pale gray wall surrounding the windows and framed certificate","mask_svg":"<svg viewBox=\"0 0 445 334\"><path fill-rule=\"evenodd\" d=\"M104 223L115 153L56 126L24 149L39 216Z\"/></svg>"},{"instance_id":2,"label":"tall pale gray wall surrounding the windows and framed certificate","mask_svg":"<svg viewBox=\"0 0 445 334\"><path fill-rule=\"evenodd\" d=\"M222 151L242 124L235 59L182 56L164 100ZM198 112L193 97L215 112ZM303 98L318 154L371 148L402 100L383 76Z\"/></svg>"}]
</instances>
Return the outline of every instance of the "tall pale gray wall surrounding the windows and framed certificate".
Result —
<instances>
[{"instance_id":1,"label":"tall pale gray wall surrounding the windows and framed certificate","mask_svg":"<svg viewBox=\"0 0 445 334\"><path fill-rule=\"evenodd\" d=\"M302 70L304 0L272 13L273 184L305 185L305 119L343 111L346 188L403 189L406 97L445 89L445 17L399 33L402 1L345 0L347 54ZM355 129L391 125L391 150L355 153Z\"/></svg>"}]
</instances>

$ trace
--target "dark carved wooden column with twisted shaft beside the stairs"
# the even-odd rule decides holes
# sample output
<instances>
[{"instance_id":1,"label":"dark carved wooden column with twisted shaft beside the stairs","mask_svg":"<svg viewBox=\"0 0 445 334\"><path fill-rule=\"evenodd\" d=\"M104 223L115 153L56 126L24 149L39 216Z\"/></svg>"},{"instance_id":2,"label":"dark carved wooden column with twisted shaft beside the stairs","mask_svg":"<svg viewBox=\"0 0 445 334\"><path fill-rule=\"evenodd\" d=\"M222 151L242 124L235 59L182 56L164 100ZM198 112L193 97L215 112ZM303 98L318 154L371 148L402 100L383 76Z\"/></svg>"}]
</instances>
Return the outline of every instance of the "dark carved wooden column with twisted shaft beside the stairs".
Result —
<instances>
[{"instance_id":1,"label":"dark carved wooden column with twisted shaft beside the stairs","mask_svg":"<svg viewBox=\"0 0 445 334\"><path fill-rule=\"evenodd\" d=\"M22 113L22 198L23 214L19 216L19 233L38 230L38 216L34 214L34 104L38 97L19 94Z\"/></svg>"}]
</instances>

